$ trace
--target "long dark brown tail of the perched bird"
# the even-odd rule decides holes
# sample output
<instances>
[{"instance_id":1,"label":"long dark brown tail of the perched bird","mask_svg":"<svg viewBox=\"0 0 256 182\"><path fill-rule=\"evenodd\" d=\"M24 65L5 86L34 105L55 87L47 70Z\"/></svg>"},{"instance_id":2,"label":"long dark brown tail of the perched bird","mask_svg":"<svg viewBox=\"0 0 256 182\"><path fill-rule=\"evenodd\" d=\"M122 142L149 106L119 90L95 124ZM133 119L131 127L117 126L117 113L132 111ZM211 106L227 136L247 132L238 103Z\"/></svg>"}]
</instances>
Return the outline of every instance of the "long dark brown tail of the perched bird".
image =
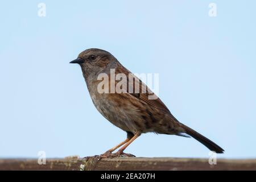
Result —
<instances>
[{"instance_id":1,"label":"long dark brown tail of the perched bird","mask_svg":"<svg viewBox=\"0 0 256 182\"><path fill-rule=\"evenodd\" d=\"M188 126L185 126L182 124L183 129L185 130L184 133L190 135L191 137L195 138L197 141L199 141L200 143L204 144L205 147L209 148L209 150L211 151L215 151L218 154L222 154L224 153L223 148L221 148L220 146L218 146L216 143L212 142L211 140L209 140L208 138L204 137L203 135L201 135L200 133L197 133L195 130L191 129Z\"/></svg>"}]
</instances>

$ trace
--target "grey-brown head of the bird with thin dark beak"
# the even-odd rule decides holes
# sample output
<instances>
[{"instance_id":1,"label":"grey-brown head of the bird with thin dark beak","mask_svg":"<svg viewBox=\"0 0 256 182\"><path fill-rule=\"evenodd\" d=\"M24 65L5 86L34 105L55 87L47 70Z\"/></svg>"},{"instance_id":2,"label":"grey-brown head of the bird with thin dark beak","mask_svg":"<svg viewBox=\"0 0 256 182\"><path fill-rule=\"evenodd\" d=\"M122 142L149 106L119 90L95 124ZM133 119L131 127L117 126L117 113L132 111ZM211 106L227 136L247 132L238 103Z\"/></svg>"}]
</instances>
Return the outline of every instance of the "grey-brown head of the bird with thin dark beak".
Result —
<instances>
[{"instance_id":1,"label":"grey-brown head of the bird with thin dark beak","mask_svg":"<svg viewBox=\"0 0 256 182\"><path fill-rule=\"evenodd\" d=\"M82 51L77 59L70 63L79 64L85 78L97 77L99 73L108 72L108 70L116 68L120 64L111 53L97 48Z\"/></svg>"}]
</instances>

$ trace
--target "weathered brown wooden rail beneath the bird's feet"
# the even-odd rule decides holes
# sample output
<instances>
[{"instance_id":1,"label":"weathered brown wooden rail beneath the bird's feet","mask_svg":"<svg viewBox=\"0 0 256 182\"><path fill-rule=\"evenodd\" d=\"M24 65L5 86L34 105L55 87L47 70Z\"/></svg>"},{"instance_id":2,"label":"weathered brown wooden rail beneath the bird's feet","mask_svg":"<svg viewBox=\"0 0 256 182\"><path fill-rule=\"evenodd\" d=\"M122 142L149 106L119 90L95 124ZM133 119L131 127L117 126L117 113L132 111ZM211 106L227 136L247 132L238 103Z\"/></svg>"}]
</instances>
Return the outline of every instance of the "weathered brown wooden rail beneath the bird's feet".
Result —
<instances>
[{"instance_id":1,"label":"weathered brown wooden rail beneath the bird's feet","mask_svg":"<svg viewBox=\"0 0 256 182\"><path fill-rule=\"evenodd\" d=\"M0 170L256 170L256 159L218 159L210 165L208 159L191 158L115 158L47 159L39 165L36 159L0 159Z\"/></svg>"}]
</instances>

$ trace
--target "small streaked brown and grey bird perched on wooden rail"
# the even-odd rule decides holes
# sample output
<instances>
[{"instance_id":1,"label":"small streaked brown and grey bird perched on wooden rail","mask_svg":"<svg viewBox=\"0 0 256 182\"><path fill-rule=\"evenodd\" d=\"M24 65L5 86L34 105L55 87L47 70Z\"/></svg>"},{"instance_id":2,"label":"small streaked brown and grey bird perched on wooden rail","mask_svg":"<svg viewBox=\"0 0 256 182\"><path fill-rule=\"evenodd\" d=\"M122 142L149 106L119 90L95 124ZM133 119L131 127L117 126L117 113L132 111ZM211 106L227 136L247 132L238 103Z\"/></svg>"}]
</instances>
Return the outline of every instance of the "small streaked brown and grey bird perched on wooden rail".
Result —
<instances>
[{"instance_id":1,"label":"small streaked brown and grey bird perched on wooden rail","mask_svg":"<svg viewBox=\"0 0 256 182\"><path fill-rule=\"evenodd\" d=\"M158 97L150 99L150 96L155 96L155 94L138 77L134 76L132 81L129 80L129 75L132 73L123 67L111 53L97 48L86 49L70 63L77 63L81 66L90 97L97 110L113 125L127 133L125 141L106 151L101 155L102 157L134 156L125 154L123 151L142 133L148 132L183 137L190 135L209 150L217 153L224 152L216 143L177 121ZM123 73L127 79L122 77L122 79L111 80L113 70L115 75ZM99 75L102 74L108 76L108 80L105 80L107 86L101 85L102 77L99 79ZM113 91L112 84L114 83L115 88L118 82L123 84L121 93L110 91L102 93L99 90L100 88ZM135 90L134 88L138 85L139 89ZM121 148L112 154L119 147Z\"/></svg>"}]
</instances>

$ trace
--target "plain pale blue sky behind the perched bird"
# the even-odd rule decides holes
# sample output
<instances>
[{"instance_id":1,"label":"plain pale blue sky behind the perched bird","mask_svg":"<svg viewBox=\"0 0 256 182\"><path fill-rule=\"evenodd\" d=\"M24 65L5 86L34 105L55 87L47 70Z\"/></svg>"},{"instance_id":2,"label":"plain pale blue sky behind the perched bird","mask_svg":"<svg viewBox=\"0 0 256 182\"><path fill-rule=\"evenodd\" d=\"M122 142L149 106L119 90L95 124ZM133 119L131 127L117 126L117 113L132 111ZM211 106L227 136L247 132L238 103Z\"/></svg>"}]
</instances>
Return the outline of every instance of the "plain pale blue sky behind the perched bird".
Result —
<instances>
[{"instance_id":1,"label":"plain pale blue sky behind the perched bird","mask_svg":"<svg viewBox=\"0 0 256 182\"><path fill-rule=\"evenodd\" d=\"M69 64L94 47L132 72L159 73L159 97L224 148L218 156L255 158L255 7L252 0L1 2L0 157L96 155L125 139L94 108L79 65ZM209 150L195 139L143 134L126 152L208 158Z\"/></svg>"}]
</instances>

